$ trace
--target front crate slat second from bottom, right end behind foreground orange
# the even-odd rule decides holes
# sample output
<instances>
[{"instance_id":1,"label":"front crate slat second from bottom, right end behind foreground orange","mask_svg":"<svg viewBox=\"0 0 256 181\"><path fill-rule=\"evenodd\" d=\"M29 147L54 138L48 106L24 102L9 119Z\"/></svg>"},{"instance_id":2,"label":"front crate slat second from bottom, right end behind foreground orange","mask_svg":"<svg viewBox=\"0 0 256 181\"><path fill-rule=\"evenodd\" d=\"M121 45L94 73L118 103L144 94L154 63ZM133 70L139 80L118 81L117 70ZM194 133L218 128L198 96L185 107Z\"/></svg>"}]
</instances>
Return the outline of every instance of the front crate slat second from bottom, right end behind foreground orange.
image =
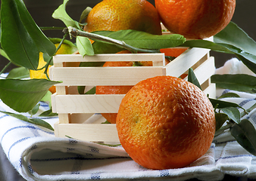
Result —
<instances>
[{"instance_id":1,"label":"front crate slat second from bottom, right end behind foreground orange","mask_svg":"<svg viewBox=\"0 0 256 181\"><path fill-rule=\"evenodd\" d=\"M117 95L56 95L58 113L108 113L118 112L123 94Z\"/></svg>"}]
</instances>

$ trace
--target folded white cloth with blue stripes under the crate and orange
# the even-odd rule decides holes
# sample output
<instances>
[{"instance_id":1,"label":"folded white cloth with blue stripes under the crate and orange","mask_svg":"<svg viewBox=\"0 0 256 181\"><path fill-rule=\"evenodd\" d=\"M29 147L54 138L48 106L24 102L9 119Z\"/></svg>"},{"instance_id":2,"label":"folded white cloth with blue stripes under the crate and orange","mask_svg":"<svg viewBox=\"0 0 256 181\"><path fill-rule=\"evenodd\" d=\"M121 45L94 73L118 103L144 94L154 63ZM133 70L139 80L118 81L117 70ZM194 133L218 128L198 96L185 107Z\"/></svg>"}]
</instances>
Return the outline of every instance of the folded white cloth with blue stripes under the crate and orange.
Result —
<instances>
[{"instance_id":1,"label":"folded white cloth with blue stripes under the crate and orange","mask_svg":"<svg viewBox=\"0 0 256 181\"><path fill-rule=\"evenodd\" d=\"M256 103L254 94L236 93L241 97L229 101L244 107ZM47 109L45 106L42 103L40 109ZM14 112L2 100L0 110ZM256 112L246 116L254 122ZM50 124L58 121L58 117L43 119ZM229 131L216 137L208 152L188 167L169 170L145 169L129 158L122 147L58 138L51 130L3 113L0 143L11 164L27 180L221 180L224 174L256 179L256 157L245 151Z\"/></svg>"}]
</instances>

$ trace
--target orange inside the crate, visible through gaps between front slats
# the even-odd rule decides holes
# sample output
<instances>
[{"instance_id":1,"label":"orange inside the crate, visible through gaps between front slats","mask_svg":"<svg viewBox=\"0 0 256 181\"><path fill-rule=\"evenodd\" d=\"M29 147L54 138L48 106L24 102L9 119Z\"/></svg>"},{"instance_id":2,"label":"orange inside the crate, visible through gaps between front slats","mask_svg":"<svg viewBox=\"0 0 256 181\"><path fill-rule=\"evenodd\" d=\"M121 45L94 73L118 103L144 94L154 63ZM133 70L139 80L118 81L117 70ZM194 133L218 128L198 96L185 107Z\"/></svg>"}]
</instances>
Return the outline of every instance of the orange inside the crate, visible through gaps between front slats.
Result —
<instances>
[{"instance_id":1,"label":"orange inside the crate, visible through gaps between front slats","mask_svg":"<svg viewBox=\"0 0 256 181\"><path fill-rule=\"evenodd\" d=\"M130 54L130 51L120 51L117 54ZM105 66L133 66L133 62L106 62ZM141 62L141 66L152 66L152 62ZM126 94L133 86L96 86L96 94ZM117 113L101 113L110 123L116 123Z\"/></svg>"}]
</instances>

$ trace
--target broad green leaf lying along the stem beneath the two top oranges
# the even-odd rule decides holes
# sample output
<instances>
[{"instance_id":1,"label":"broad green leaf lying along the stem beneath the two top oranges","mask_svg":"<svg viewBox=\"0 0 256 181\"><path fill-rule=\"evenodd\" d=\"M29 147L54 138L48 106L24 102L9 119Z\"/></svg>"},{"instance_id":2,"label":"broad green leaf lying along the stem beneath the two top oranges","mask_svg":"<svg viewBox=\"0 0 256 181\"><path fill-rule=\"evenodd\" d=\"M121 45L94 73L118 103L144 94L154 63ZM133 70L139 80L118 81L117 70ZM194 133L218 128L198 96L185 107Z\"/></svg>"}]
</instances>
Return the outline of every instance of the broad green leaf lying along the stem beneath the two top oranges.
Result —
<instances>
[{"instance_id":1,"label":"broad green leaf lying along the stem beneath the two top oranges","mask_svg":"<svg viewBox=\"0 0 256 181\"><path fill-rule=\"evenodd\" d=\"M114 38L120 41L124 41L126 44L129 44L135 48L144 48L144 49L161 49L161 48L172 48L179 46L185 42L183 35L151 35L147 32L140 32L132 29L120 30L117 32L110 31L99 31L93 32L98 35L104 35L110 38ZM92 44L95 54L101 53L111 53L111 49L114 51L120 51L121 48L117 48L116 45L108 44L106 42L95 40Z\"/></svg>"}]
</instances>

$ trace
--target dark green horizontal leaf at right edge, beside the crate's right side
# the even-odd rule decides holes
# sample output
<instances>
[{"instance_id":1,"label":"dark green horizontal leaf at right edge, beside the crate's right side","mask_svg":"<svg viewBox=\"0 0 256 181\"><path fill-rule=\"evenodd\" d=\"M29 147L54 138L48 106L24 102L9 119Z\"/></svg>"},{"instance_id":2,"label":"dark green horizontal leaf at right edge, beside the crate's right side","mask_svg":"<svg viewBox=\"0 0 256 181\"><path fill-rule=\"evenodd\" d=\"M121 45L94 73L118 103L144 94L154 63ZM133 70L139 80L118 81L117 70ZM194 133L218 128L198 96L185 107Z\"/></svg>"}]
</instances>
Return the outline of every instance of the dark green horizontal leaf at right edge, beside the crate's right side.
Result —
<instances>
[{"instance_id":1,"label":"dark green horizontal leaf at right edge, beside the crate's right side","mask_svg":"<svg viewBox=\"0 0 256 181\"><path fill-rule=\"evenodd\" d=\"M217 87L249 93L254 93L256 88L256 77L245 74L212 75L211 82Z\"/></svg>"}]
</instances>

